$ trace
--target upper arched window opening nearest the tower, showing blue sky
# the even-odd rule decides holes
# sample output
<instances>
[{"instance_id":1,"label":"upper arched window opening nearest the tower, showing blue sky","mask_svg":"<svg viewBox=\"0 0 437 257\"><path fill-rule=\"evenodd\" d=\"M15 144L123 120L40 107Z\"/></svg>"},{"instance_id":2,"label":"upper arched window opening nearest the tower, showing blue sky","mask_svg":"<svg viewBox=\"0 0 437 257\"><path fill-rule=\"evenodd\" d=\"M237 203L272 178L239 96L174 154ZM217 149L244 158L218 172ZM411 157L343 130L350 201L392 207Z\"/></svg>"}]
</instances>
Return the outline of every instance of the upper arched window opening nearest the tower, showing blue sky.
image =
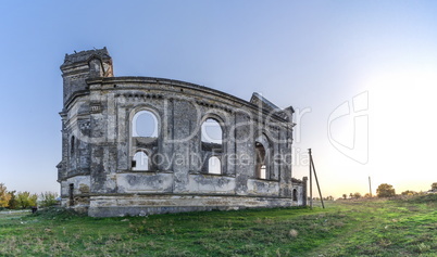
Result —
<instances>
[{"instance_id":1,"label":"upper arched window opening nearest the tower, showing blue sky","mask_svg":"<svg viewBox=\"0 0 437 257\"><path fill-rule=\"evenodd\" d=\"M149 111L140 111L132 119L132 137L158 138L158 118Z\"/></svg>"}]
</instances>

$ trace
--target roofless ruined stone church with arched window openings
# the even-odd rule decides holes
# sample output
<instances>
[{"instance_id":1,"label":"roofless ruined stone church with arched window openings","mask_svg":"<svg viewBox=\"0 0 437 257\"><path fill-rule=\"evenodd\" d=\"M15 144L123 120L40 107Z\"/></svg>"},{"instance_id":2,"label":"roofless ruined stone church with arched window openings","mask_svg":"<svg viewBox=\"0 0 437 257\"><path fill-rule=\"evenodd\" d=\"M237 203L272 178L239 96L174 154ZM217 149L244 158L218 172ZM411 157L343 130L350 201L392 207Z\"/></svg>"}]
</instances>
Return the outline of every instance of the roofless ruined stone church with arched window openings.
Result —
<instances>
[{"instance_id":1,"label":"roofless ruined stone church with arched window openings","mask_svg":"<svg viewBox=\"0 0 437 257\"><path fill-rule=\"evenodd\" d=\"M114 77L105 48L66 54L61 70L63 206L108 217L305 205L291 106Z\"/></svg>"}]
</instances>

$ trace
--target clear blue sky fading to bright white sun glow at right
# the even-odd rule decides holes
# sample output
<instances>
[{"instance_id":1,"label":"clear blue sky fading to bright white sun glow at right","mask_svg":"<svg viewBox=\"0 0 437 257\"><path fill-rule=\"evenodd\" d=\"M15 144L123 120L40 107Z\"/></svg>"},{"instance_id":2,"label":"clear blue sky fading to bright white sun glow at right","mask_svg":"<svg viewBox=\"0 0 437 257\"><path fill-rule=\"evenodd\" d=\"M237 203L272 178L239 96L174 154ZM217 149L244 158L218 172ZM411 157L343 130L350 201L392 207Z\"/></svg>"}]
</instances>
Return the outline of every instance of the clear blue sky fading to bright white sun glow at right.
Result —
<instances>
[{"instance_id":1,"label":"clear blue sky fading to bright white sun glow at right","mask_svg":"<svg viewBox=\"0 0 437 257\"><path fill-rule=\"evenodd\" d=\"M308 176L302 153L312 147L325 195L364 194L369 176L374 192L384 182L428 190L436 13L435 1L2 1L0 182L59 190L59 66L65 53L107 47L115 76L292 105L294 177Z\"/></svg>"}]
</instances>

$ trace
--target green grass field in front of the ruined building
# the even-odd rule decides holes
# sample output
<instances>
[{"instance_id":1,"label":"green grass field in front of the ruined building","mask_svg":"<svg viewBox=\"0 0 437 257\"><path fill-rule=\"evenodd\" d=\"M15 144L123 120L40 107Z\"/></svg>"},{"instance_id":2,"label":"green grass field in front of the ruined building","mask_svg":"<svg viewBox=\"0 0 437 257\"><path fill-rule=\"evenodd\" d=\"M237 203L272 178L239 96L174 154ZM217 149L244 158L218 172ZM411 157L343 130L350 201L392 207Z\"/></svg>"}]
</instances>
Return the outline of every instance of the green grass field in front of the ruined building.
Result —
<instances>
[{"instance_id":1,"label":"green grass field in front of the ruined building","mask_svg":"<svg viewBox=\"0 0 437 257\"><path fill-rule=\"evenodd\" d=\"M0 256L437 256L437 194L123 218L3 211Z\"/></svg>"}]
</instances>

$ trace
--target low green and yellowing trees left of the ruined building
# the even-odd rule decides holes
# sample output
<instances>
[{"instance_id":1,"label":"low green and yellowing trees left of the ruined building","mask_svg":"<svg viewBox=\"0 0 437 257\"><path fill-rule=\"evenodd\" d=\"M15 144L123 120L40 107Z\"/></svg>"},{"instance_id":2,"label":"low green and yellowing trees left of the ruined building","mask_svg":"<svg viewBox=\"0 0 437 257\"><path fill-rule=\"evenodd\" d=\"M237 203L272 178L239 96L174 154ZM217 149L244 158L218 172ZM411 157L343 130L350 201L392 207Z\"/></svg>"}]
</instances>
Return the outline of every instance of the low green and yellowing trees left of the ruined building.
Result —
<instances>
[{"instance_id":1,"label":"low green and yellowing trees left of the ruined building","mask_svg":"<svg viewBox=\"0 0 437 257\"><path fill-rule=\"evenodd\" d=\"M8 191L4 183L0 183L0 210L9 209L27 209L30 207L49 207L58 204L58 193L43 192L33 194L28 191L16 192Z\"/></svg>"}]
</instances>

